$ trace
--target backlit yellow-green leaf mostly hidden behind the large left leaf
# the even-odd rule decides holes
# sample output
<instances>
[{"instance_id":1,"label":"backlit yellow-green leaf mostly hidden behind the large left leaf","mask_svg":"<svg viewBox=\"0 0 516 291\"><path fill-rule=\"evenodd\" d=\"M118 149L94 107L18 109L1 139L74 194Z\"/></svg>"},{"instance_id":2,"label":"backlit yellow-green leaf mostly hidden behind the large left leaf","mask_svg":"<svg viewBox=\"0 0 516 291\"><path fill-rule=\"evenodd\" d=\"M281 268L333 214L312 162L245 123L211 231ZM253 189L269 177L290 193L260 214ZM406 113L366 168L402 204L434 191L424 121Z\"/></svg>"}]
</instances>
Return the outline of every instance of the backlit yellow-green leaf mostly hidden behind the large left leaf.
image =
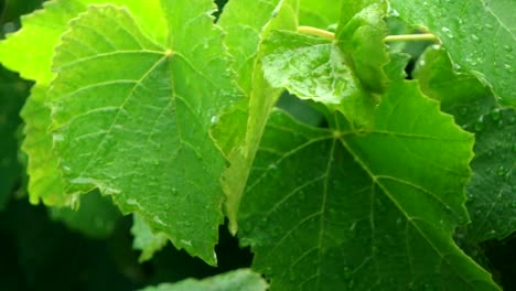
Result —
<instances>
[{"instance_id":1,"label":"backlit yellow-green leaf mostly hidden behind the large left leaf","mask_svg":"<svg viewBox=\"0 0 516 291\"><path fill-rule=\"evenodd\" d=\"M100 1L100 0L69 0L47 1L44 9L22 18L23 28L8 35L0 42L0 62L9 68L20 72L21 76L34 79L39 88L34 89L22 111L26 123L25 140L22 149L28 153L29 160L29 192L33 204L42 200L47 205L69 206L77 197L65 195L61 184L61 173L57 168L57 157L52 152L52 137L47 136L50 126L50 109L45 108L45 93L50 80L54 77L51 71L54 47L60 42L61 34L67 30L67 23L88 3L127 1ZM144 28L157 28L161 35L165 24L163 18L155 18L153 8L159 8L157 0L143 1L149 10L141 10L141 1L126 3L129 9L139 11L138 19ZM140 11L141 10L141 11ZM159 37L159 36L157 36ZM163 37L161 37L163 39ZM37 43L36 46L33 44Z\"/></svg>"}]
</instances>

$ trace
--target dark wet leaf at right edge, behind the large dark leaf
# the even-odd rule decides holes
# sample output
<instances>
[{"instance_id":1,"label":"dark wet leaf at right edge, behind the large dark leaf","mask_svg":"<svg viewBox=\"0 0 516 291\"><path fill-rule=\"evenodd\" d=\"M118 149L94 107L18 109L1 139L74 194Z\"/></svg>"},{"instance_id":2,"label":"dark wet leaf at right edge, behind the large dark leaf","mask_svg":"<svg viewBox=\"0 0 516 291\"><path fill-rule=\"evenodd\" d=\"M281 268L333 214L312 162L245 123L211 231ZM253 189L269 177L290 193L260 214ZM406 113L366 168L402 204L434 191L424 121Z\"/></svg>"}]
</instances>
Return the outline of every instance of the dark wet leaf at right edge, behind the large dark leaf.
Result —
<instances>
[{"instance_id":1,"label":"dark wet leaf at right edge, behind the large dark leaf","mask_svg":"<svg viewBox=\"0 0 516 291\"><path fill-rule=\"evenodd\" d=\"M467 184L472 224L467 239L503 239L516 230L516 112L496 105L488 89L469 74L453 71L442 48L430 47L415 69L421 88L441 100L464 129L475 133L473 176Z\"/></svg>"}]
</instances>

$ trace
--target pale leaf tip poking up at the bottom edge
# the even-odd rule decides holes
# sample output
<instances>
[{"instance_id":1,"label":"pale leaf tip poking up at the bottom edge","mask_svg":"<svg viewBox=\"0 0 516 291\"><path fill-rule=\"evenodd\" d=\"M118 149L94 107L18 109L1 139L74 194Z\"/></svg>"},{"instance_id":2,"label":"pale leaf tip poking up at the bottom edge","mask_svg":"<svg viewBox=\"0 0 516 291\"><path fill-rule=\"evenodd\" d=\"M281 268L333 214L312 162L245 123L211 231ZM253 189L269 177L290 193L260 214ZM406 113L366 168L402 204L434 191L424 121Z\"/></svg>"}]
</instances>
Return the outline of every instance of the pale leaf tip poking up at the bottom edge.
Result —
<instances>
[{"instance_id":1,"label":"pale leaf tip poking up at the bottom edge","mask_svg":"<svg viewBox=\"0 0 516 291\"><path fill-rule=\"evenodd\" d=\"M162 283L142 291L266 291L267 282L247 269L217 274L204 280L186 279L178 283Z\"/></svg>"}]
</instances>

